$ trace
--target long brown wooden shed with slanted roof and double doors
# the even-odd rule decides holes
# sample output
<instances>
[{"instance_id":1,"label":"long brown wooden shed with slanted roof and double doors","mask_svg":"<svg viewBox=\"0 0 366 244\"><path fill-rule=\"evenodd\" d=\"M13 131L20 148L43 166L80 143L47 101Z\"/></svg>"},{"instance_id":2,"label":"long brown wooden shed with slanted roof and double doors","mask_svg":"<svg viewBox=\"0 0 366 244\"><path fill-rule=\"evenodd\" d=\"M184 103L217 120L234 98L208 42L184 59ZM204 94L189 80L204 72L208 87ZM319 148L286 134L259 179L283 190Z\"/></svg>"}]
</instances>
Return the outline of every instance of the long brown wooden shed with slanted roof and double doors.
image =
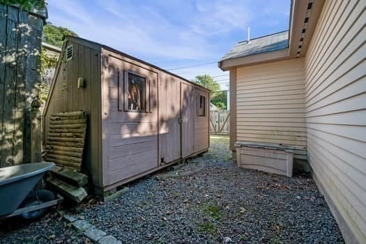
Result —
<instances>
[{"instance_id":1,"label":"long brown wooden shed with slanted roof and double doors","mask_svg":"<svg viewBox=\"0 0 366 244\"><path fill-rule=\"evenodd\" d=\"M202 86L67 36L43 114L44 144L52 114L83 110L88 122L82 167L102 193L206 152L208 105L209 90Z\"/></svg>"}]
</instances>

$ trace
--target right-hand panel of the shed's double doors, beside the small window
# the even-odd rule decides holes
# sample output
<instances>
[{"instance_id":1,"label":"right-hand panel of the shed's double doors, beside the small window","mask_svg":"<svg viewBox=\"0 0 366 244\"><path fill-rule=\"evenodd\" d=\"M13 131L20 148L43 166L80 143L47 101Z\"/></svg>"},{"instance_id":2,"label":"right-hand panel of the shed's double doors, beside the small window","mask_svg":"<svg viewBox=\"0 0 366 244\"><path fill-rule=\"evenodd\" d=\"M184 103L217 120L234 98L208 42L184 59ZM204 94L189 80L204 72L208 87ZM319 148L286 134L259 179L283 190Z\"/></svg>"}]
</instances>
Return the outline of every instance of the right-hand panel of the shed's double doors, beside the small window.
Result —
<instances>
[{"instance_id":1,"label":"right-hand panel of the shed's double doors, beside the small window","mask_svg":"<svg viewBox=\"0 0 366 244\"><path fill-rule=\"evenodd\" d=\"M185 158L194 152L195 145L195 102L194 88L190 84L181 83L181 151Z\"/></svg>"}]
</instances>

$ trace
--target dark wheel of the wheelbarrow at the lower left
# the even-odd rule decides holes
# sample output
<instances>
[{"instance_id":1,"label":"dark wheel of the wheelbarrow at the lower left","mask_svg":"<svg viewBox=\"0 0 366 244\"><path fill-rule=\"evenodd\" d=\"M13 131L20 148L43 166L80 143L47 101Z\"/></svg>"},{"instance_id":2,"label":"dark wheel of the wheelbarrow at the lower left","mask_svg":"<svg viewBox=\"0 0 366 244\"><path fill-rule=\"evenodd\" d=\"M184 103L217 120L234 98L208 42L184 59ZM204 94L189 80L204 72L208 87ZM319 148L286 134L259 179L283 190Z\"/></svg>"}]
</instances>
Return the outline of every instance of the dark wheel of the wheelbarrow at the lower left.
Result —
<instances>
[{"instance_id":1,"label":"dark wheel of the wheelbarrow at the lower left","mask_svg":"<svg viewBox=\"0 0 366 244\"><path fill-rule=\"evenodd\" d=\"M36 190L36 195L33 194L30 197L27 197L27 199L25 199L25 201L24 201L25 202L24 207L34 206L34 205L42 204L46 201L52 201L52 200L56 199L56 197L54 196L54 193L49 190ZM37 219L37 218L41 218L43 215L45 215L47 213L47 211L49 211L49 207L40 208L38 210L31 211L31 212L26 212L26 213L23 213L22 216L23 216L23 218L26 218L29 220Z\"/></svg>"}]
</instances>

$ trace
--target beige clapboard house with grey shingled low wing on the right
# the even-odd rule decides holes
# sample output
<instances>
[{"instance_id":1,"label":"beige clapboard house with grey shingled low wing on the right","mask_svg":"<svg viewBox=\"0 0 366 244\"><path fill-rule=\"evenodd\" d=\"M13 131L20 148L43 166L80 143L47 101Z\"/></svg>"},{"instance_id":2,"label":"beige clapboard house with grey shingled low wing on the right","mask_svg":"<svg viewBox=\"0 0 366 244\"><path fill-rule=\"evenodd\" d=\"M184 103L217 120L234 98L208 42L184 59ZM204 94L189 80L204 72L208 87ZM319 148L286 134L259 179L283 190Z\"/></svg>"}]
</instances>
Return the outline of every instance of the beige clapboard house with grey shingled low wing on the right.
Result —
<instances>
[{"instance_id":1,"label":"beige clapboard house with grey shingled low wing on the right","mask_svg":"<svg viewBox=\"0 0 366 244\"><path fill-rule=\"evenodd\" d=\"M293 146L347 243L366 243L365 6L293 0L289 31L238 43L219 62L230 72L231 151Z\"/></svg>"}]
</instances>

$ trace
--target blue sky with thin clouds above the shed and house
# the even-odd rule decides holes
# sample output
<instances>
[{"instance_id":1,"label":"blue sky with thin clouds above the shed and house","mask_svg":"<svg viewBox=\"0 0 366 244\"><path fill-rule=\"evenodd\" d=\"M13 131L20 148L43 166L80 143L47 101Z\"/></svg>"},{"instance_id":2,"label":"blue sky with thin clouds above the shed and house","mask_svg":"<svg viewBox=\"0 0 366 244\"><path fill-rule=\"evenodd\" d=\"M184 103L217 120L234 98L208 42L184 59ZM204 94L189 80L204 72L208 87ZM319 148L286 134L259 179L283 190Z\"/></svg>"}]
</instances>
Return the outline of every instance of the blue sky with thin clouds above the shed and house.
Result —
<instances>
[{"instance_id":1,"label":"blue sky with thin clouds above the shed and house","mask_svg":"<svg viewBox=\"0 0 366 244\"><path fill-rule=\"evenodd\" d=\"M289 29L290 0L49 0L47 21L192 79L241 40ZM215 63L213 63L215 62ZM216 77L225 89L229 76Z\"/></svg>"}]
</instances>

